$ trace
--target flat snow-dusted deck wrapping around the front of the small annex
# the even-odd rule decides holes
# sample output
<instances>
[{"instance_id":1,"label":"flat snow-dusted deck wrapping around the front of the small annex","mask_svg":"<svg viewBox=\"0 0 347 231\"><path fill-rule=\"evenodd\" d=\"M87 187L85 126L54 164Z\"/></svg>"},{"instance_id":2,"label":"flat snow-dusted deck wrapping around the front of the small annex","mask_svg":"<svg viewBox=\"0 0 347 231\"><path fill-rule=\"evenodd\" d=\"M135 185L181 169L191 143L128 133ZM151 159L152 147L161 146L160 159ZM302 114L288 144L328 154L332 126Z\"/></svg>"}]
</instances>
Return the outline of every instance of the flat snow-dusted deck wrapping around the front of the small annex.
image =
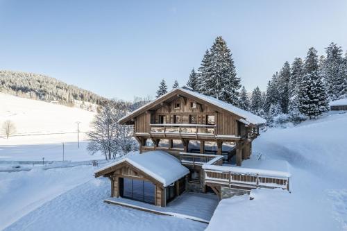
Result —
<instances>
[{"instance_id":1,"label":"flat snow-dusted deck wrapping around the front of the small annex","mask_svg":"<svg viewBox=\"0 0 347 231\"><path fill-rule=\"evenodd\" d=\"M115 203L148 212L191 219L209 223L219 200L214 194L185 193L167 204L167 207L158 207L136 200L126 198L108 198L107 203Z\"/></svg>"}]
</instances>

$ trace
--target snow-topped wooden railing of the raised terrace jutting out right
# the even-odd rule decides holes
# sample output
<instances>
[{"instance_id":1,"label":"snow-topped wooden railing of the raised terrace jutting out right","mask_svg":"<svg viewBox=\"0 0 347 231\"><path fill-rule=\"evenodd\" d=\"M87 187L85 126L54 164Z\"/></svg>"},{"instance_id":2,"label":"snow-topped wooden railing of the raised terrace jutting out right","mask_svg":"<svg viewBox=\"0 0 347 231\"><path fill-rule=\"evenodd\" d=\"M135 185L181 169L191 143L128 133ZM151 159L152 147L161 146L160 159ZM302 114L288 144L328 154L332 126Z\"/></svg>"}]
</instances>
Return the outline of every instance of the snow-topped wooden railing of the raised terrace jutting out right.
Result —
<instances>
[{"instance_id":1,"label":"snow-topped wooden railing of the raised terrace jutting out right","mask_svg":"<svg viewBox=\"0 0 347 231\"><path fill-rule=\"evenodd\" d=\"M281 188L289 191L290 174L279 171L246 169L228 166L203 166L205 183L224 187Z\"/></svg>"}]
</instances>

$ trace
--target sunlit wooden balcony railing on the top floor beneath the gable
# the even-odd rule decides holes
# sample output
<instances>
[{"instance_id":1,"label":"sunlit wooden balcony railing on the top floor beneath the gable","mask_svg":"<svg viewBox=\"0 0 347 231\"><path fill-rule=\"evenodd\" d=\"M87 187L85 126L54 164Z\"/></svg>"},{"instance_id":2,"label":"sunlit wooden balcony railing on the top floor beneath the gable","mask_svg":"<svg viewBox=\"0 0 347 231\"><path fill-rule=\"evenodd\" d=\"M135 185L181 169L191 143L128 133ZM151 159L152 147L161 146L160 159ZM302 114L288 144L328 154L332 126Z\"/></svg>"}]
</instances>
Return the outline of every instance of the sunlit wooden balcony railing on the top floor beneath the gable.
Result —
<instances>
[{"instance_id":1,"label":"sunlit wooden balcony railing on the top floor beneath the gable","mask_svg":"<svg viewBox=\"0 0 347 231\"><path fill-rule=\"evenodd\" d=\"M167 136L214 136L216 135L215 125L190 124L190 123L154 123L151 124L152 135Z\"/></svg>"}]
</instances>

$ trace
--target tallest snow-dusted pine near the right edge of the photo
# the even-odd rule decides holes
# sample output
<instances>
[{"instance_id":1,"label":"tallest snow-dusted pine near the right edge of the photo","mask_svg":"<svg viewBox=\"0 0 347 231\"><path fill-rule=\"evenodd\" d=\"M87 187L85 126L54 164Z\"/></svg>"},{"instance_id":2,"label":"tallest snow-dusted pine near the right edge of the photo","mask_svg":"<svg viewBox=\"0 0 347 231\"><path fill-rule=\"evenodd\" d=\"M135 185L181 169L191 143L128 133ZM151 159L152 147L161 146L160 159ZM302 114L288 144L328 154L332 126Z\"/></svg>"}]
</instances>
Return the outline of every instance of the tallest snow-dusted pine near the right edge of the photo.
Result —
<instances>
[{"instance_id":1,"label":"tallest snow-dusted pine near the right edge of the photo","mask_svg":"<svg viewBox=\"0 0 347 231\"><path fill-rule=\"evenodd\" d=\"M323 78L328 93L328 99L336 100L346 94L347 83L344 76L344 58L341 46L332 42L325 48L326 59L323 62Z\"/></svg>"}]
</instances>

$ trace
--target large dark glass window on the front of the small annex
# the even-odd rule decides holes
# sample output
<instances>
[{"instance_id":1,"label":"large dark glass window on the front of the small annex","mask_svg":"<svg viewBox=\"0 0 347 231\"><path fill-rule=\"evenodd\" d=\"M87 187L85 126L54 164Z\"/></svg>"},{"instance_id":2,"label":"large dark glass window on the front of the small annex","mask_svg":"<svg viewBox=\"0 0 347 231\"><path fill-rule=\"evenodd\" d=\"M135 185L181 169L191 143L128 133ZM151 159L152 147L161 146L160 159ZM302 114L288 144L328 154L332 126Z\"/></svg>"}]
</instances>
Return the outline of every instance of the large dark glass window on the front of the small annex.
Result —
<instances>
[{"instance_id":1,"label":"large dark glass window on the front of the small annex","mask_svg":"<svg viewBox=\"0 0 347 231\"><path fill-rule=\"evenodd\" d=\"M145 180L119 178L121 197L154 204L155 185Z\"/></svg>"}]
</instances>

